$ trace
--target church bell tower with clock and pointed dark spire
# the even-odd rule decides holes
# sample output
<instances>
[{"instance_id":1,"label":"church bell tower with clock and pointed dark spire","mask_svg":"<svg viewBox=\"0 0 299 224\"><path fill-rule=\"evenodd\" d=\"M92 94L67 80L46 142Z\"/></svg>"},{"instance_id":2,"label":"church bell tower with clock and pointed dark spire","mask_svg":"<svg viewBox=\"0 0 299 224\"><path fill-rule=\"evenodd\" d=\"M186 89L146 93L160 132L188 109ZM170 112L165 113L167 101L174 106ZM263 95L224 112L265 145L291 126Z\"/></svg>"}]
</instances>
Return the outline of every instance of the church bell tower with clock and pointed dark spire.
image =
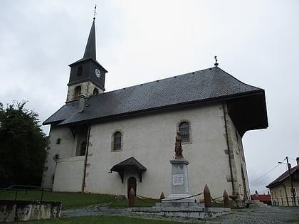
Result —
<instances>
[{"instance_id":1,"label":"church bell tower with clock and pointed dark spire","mask_svg":"<svg viewBox=\"0 0 299 224\"><path fill-rule=\"evenodd\" d=\"M83 58L69 66L70 80L68 82L66 102L78 100L79 95L90 97L90 95L98 95L105 91L105 74L107 70L96 59L95 17L90 28Z\"/></svg>"}]
</instances>

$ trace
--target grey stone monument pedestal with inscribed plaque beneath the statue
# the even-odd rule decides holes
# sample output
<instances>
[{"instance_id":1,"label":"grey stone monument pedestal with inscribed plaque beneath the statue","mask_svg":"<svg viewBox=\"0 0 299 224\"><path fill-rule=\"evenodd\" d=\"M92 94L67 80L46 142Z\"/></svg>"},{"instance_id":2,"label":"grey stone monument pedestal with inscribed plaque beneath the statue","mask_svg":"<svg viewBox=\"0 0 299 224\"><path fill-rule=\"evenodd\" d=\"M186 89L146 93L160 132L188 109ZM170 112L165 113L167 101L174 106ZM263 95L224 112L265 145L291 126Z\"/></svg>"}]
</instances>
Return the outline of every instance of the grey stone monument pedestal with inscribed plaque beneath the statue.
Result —
<instances>
[{"instance_id":1,"label":"grey stone monument pedestal with inscribed plaque beneath the statue","mask_svg":"<svg viewBox=\"0 0 299 224\"><path fill-rule=\"evenodd\" d=\"M169 206L174 203L196 203L196 199L189 193L188 164L187 159L172 159L172 193L162 200L162 206Z\"/></svg>"}]
</instances>

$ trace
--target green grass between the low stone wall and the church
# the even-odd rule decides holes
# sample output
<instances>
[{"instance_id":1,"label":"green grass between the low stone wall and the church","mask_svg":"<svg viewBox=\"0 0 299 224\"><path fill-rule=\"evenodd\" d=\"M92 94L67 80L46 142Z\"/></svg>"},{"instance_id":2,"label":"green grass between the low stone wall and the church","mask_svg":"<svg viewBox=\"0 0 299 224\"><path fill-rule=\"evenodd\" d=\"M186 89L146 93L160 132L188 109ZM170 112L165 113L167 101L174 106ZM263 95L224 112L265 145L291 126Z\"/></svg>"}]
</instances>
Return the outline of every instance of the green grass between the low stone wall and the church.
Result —
<instances>
[{"instance_id":1,"label":"green grass between the low stone wall and the church","mask_svg":"<svg viewBox=\"0 0 299 224\"><path fill-rule=\"evenodd\" d=\"M5 191L0 193L0 200L14 200L16 191ZM41 201L41 191L28 190L18 191L18 201ZM70 193L70 192L43 192L43 201L61 201L63 209L80 208L100 203L108 203L110 208L126 208L128 200L119 201L112 195L98 193ZM135 207L152 207L157 201L138 198L135 199Z\"/></svg>"}]
</instances>

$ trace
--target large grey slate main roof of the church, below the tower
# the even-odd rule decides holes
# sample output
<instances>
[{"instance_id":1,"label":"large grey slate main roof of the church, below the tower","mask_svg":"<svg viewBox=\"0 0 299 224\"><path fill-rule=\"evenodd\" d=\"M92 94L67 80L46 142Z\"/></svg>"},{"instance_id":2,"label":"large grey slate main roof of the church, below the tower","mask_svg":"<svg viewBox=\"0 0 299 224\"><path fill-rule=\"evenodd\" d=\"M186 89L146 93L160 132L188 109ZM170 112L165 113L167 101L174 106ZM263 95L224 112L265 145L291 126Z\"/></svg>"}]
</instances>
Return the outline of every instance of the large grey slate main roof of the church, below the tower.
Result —
<instances>
[{"instance_id":1,"label":"large grey slate main roof of the church, below the tower","mask_svg":"<svg viewBox=\"0 0 299 224\"><path fill-rule=\"evenodd\" d=\"M85 108L80 113L78 113L78 101L69 102L46 119L43 124L58 123L70 126L151 110L229 100L256 94L263 97L261 127L265 128L268 127L268 118L264 90L237 80L219 67L93 95L85 102Z\"/></svg>"}]
</instances>

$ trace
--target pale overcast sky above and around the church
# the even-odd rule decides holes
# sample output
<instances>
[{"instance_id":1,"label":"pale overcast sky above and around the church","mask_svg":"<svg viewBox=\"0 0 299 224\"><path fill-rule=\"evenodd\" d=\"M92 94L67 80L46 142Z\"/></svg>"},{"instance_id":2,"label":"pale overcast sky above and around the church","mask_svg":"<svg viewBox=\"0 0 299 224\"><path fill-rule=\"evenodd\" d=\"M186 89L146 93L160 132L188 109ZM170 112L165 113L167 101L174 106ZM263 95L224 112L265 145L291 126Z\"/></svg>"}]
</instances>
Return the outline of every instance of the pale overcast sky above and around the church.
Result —
<instances>
[{"instance_id":1,"label":"pale overcast sky above and around the church","mask_svg":"<svg viewBox=\"0 0 299 224\"><path fill-rule=\"evenodd\" d=\"M106 92L210 68L217 55L220 68L266 91L269 127L243 137L251 192L267 193L285 156L295 166L296 0L2 0L0 102L27 100L41 122L65 103L68 65L83 57L95 4Z\"/></svg>"}]
</instances>

